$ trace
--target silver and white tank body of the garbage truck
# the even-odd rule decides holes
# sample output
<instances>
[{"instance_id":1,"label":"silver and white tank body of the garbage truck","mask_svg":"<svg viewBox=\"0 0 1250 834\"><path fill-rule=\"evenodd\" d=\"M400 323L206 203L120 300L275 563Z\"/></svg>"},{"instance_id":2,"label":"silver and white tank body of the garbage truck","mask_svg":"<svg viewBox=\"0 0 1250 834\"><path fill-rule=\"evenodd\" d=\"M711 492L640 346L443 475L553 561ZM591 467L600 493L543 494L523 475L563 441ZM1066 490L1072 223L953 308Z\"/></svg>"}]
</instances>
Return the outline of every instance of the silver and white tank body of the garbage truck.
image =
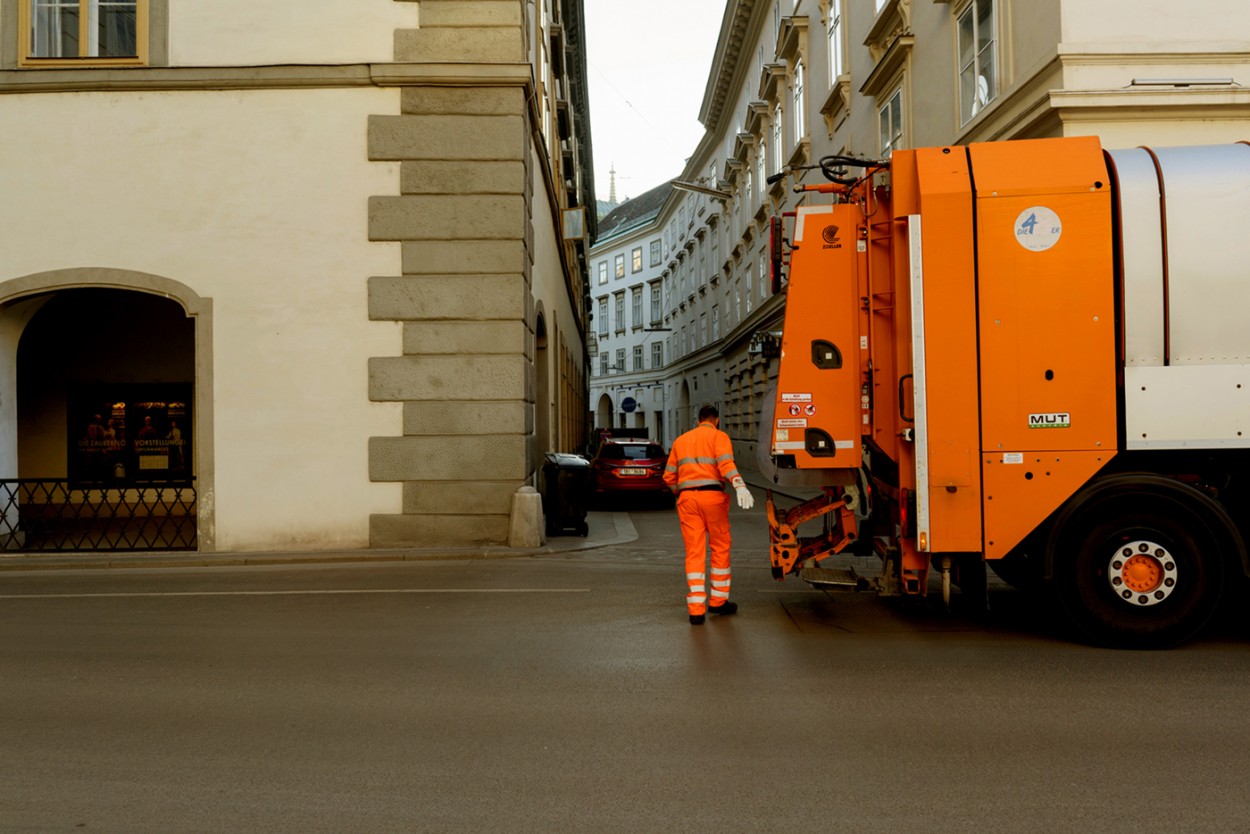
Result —
<instances>
[{"instance_id":1,"label":"silver and white tank body of the garbage truck","mask_svg":"<svg viewBox=\"0 0 1250 834\"><path fill-rule=\"evenodd\" d=\"M1250 448L1250 145L1109 151L1129 449Z\"/></svg>"}]
</instances>

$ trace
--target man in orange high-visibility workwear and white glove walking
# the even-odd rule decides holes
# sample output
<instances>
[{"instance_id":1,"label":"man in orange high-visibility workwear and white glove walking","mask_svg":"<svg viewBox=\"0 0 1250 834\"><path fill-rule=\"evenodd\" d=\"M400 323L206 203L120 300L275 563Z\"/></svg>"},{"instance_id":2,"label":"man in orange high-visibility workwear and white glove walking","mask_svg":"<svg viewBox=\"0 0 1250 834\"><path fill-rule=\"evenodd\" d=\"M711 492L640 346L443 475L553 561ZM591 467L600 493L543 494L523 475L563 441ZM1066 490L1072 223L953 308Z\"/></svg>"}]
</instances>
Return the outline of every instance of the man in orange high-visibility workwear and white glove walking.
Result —
<instances>
[{"instance_id":1,"label":"man in orange high-visibility workwear and white glove walking","mask_svg":"<svg viewBox=\"0 0 1250 834\"><path fill-rule=\"evenodd\" d=\"M729 601L729 495L732 484L738 505L751 509L755 499L738 474L729 435L720 430L720 413L712 405L699 409L699 425L672 441L664 483L678 494L678 521L686 544L686 608L690 624L702 625L708 611L732 614ZM711 543L711 601L708 599L706 549Z\"/></svg>"}]
</instances>

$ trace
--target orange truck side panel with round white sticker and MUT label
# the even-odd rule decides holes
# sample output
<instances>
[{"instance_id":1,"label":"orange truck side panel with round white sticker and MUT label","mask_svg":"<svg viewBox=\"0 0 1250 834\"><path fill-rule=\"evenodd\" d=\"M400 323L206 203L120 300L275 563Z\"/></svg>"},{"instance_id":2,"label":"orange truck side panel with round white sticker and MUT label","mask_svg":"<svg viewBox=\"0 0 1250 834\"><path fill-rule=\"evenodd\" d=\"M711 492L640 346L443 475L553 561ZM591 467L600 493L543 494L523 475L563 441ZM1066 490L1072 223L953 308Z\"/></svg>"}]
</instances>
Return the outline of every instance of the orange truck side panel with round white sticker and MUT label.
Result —
<instances>
[{"instance_id":1,"label":"orange truck side panel with round white sticker and MUT label","mask_svg":"<svg viewBox=\"0 0 1250 834\"><path fill-rule=\"evenodd\" d=\"M1114 235L1096 139L971 145L969 156L982 461L1004 464L984 468L992 559L1115 453ZM1031 460L1046 461L1045 476L1016 478ZM1051 488L1055 500L1041 500Z\"/></svg>"}]
</instances>

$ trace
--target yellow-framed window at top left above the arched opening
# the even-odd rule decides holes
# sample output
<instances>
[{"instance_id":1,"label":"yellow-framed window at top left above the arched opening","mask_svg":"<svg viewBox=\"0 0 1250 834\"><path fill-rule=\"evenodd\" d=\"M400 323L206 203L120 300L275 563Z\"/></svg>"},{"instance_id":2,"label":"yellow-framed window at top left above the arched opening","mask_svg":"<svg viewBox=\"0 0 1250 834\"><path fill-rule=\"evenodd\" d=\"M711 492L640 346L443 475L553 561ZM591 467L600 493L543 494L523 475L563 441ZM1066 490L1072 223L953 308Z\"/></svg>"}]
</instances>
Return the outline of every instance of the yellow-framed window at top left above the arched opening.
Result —
<instances>
[{"instance_id":1,"label":"yellow-framed window at top left above the arched opening","mask_svg":"<svg viewBox=\"0 0 1250 834\"><path fill-rule=\"evenodd\" d=\"M20 0L20 63L148 63L149 0Z\"/></svg>"}]
</instances>

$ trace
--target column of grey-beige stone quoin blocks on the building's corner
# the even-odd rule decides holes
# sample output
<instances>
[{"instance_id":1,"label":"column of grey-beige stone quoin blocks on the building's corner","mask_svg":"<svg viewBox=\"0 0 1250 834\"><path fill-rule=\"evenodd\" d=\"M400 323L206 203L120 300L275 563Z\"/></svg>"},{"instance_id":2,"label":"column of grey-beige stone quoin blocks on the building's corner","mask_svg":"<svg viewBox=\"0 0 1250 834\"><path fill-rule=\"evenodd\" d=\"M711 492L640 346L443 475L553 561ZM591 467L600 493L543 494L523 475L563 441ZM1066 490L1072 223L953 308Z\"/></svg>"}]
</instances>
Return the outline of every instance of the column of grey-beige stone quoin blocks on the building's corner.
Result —
<instances>
[{"instance_id":1,"label":"column of grey-beige stone quoin blocks on the building's corner","mask_svg":"<svg viewBox=\"0 0 1250 834\"><path fill-rule=\"evenodd\" d=\"M369 445L370 478L404 484L401 513L370 519L372 546L504 544L532 484L530 115L526 88L489 69L528 60L522 9L422 0L396 61L479 66L405 86L401 115L369 123L370 159L400 163L369 235L402 246L402 274L369 280L369 315L404 328L404 354L369 363L370 399L404 404L404 435Z\"/></svg>"}]
</instances>

